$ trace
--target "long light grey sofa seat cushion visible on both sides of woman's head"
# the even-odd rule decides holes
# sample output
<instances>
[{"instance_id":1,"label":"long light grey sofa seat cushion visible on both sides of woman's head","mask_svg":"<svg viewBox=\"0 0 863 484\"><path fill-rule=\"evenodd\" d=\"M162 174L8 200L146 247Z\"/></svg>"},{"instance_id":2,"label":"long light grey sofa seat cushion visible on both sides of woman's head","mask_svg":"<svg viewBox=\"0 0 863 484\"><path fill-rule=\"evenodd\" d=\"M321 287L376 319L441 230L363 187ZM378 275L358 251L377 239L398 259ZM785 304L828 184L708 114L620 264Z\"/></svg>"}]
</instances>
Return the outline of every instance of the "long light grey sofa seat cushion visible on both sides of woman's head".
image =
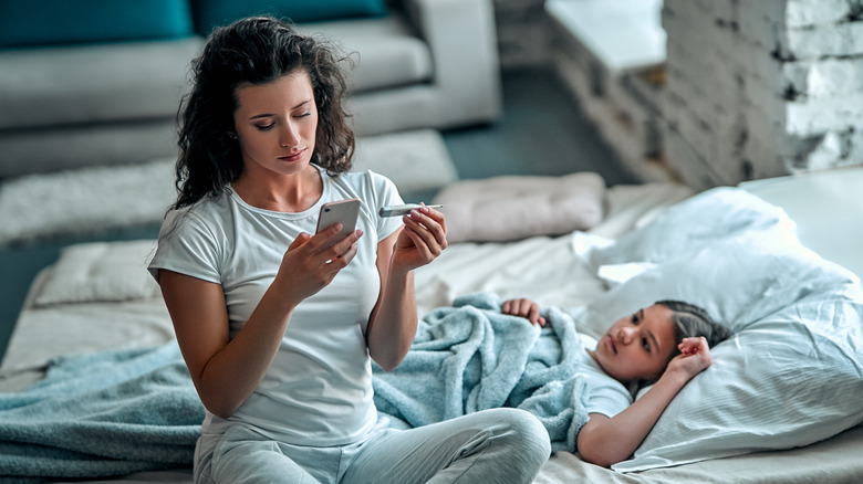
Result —
<instances>
[{"instance_id":1,"label":"long light grey sofa seat cushion visible on both sides of woman's head","mask_svg":"<svg viewBox=\"0 0 863 484\"><path fill-rule=\"evenodd\" d=\"M354 93L432 77L427 44L397 14L303 29L356 52L361 62L347 73ZM195 36L0 51L0 129L173 118L188 90L189 63L202 44Z\"/></svg>"}]
</instances>

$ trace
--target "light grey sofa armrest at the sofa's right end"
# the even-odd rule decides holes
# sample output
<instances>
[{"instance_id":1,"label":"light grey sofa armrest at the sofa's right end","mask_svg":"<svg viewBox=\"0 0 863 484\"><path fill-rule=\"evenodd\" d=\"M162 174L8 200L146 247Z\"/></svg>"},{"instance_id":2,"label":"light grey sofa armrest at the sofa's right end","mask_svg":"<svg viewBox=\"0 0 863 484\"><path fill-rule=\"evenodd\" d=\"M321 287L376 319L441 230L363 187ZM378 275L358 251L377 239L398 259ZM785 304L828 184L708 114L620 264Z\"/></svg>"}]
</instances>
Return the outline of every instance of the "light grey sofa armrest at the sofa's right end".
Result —
<instances>
[{"instance_id":1,"label":"light grey sofa armrest at the sofa's right end","mask_svg":"<svg viewBox=\"0 0 863 484\"><path fill-rule=\"evenodd\" d=\"M446 99L439 108L472 113L477 123L498 118L502 99L491 0L402 3L408 20L432 49L435 87L445 92Z\"/></svg>"}]
</instances>

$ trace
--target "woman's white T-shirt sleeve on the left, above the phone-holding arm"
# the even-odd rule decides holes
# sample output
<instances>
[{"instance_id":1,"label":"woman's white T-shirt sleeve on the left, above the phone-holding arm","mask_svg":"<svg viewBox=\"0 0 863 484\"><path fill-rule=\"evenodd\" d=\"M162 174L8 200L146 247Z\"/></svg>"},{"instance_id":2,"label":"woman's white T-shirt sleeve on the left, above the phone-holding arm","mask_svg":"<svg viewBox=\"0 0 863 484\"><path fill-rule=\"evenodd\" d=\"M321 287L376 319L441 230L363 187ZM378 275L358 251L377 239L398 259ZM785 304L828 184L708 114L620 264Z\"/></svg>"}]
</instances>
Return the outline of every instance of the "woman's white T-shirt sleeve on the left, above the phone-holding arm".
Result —
<instances>
[{"instance_id":1,"label":"woman's white T-shirt sleeve on the left, above the phone-holding arm","mask_svg":"<svg viewBox=\"0 0 863 484\"><path fill-rule=\"evenodd\" d=\"M156 254L147 269L158 281L158 270L166 269L204 281L221 283L217 238L201 219L189 211L173 211L159 231Z\"/></svg>"}]
</instances>

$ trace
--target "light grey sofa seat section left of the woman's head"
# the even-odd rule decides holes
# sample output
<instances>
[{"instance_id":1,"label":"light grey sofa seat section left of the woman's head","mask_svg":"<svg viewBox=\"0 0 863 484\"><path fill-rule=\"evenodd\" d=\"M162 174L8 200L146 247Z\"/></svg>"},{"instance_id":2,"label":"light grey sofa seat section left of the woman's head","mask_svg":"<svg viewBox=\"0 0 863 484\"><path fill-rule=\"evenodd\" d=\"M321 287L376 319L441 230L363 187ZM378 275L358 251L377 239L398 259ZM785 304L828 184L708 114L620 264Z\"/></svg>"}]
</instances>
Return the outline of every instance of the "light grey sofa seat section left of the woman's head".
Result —
<instances>
[{"instance_id":1,"label":"light grey sofa seat section left of the woman's head","mask_svg":"<svg viewBox=\"0 0 863 484\"><path fill-rule=\"evenodd\" d=\"M202 42L0 51L0 129L173 118Z\"/></svg>"}]
</instances>

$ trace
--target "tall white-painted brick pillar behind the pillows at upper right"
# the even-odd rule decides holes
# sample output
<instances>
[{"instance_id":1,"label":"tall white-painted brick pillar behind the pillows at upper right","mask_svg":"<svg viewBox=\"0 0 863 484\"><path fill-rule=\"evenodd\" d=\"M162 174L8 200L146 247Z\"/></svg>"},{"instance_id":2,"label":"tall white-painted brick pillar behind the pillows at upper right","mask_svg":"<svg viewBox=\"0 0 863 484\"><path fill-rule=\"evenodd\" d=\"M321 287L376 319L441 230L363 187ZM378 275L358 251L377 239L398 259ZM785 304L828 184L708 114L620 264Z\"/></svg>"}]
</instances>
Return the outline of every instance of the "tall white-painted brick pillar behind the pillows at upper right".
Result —
<instances>
[{"instance_id":1,"label":"tall white-painted brick pillar behind the pillows at upper right","mask_svg":"<svg viewBox=\"0 0 863 484\"><path fill-rule=\"evenodd\" d=\"M668 166L707 188L863 162L862 7L665 0Z\"/></svg>"}]
</instances>

